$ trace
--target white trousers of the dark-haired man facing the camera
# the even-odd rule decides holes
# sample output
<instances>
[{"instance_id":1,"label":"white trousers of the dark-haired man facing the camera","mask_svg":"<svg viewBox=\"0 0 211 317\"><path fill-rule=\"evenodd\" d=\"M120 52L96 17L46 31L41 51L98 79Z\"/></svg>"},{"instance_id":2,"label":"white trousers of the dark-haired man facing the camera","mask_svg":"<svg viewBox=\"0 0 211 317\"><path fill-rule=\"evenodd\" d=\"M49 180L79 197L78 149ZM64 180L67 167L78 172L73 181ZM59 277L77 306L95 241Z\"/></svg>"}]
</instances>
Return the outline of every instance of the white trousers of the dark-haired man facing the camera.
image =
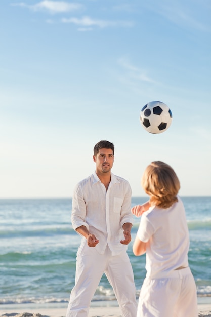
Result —
<instances>
[{"instance_id":1,"label":"white trousers of the dark-haired man facing the camera","mask_svg":"<svg viewBox=\"0 0 211 317\"><path fill-rule=\"evenodd\" d=\"M77 252L75 286L66 317L88 316L90 302L104 272L113 287L122 317L136 316L136 287L128 254L124 251L112 256L108 247L104 254L99 254L86 244Z\"/></svg>"}]
</instances>

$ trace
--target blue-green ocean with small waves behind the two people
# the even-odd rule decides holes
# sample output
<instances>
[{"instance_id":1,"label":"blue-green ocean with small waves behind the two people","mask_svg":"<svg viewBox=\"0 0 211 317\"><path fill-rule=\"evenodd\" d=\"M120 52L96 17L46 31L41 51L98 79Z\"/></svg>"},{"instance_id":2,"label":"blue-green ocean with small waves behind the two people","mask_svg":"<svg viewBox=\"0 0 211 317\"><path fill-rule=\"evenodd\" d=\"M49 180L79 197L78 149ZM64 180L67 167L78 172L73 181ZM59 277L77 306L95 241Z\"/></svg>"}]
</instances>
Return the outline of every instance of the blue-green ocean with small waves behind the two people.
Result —
<instances>
[{"instance_id":1,"label":"blue-green ocean with small waves behind the two people","mask_svg":"<svg viewBox=\"0 0 211 317\"><path fill-rule=\"evenodd\" d=\"M146 197L132 199L132 205ZM182 197L190 234L189 265L197 296L211 299L211 197ZM0 305L68 303L74 285L80 236L71 227L71 199L0 200ZM134 216L132 239L140 218ZM145 255L128 254L137 298L144 280ZM114 301L103 275L92 302ZM211 301L210 301L211 302Z\"/></svg>"}]
</instances>

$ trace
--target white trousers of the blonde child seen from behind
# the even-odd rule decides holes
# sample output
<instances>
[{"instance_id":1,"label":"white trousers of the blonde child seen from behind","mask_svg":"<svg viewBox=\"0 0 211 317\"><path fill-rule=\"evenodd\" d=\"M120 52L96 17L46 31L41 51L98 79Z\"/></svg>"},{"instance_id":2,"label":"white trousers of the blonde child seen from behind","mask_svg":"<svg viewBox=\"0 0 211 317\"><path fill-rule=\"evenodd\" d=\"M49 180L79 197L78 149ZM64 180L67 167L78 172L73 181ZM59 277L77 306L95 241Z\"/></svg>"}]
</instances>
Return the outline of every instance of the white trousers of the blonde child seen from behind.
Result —
<instances>
[{"instance_id":1,"label":"white trousers of the blonde child seen from behind","mask_svg":"<svg viewBox=\"0 0 211 317\"><path fill-rule=\"evenodd\" d=\"M175 270L168 278L146 278L137 317L198 317L196 285L190 268Z\"/></svg>"}]
</instances>

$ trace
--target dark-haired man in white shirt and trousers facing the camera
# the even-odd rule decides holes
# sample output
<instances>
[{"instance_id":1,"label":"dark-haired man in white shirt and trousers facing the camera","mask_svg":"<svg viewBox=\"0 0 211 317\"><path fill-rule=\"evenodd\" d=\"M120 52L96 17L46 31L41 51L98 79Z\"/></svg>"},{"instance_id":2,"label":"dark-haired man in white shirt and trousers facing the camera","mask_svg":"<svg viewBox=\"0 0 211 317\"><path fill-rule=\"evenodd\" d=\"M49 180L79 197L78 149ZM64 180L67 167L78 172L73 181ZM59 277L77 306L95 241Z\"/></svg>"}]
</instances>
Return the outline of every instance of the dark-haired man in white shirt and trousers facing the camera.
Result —
<instances>
[{"instance_id":1,"label":"dark-haired man in white shirt and trousers facing the camera","mask_svg":"<svg viewBox=\"0 0 211 317\"><path fill-rule=\"evenodd\" d=\"M96 172L79 182L72 199L72 226L82 236L77 252L75 286L66 317L87 317L103 273L113 287L122 317L135 317L136 288L126 253L131 241L131 187L111 173L114 145L94 147Z\"/></svg>"}]
</instances>

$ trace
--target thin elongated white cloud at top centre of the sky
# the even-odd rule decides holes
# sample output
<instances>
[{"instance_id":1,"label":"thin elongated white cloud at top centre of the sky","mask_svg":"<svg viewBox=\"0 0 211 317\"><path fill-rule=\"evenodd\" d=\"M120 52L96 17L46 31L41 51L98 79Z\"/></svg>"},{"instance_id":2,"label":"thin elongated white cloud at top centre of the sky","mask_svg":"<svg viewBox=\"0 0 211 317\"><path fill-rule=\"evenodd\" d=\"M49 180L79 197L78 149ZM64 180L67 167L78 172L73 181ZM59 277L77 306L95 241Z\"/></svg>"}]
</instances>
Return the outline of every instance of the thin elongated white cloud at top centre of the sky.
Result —
<instances>
[{"instance_id":1,"label":"thin elongated white cloud at top centre of the sky","mask_svg":"<svg viewBox=\"0 0 211 317\"><path fill-rule=\"evenodd\" d=\"M132 22L126 22L126 21L106 21L106 20L98 20L98 19L92 19L88 16L82 17L80 19L78 18L63 18L63 23L73 23L78 26L82 27L91 27L91 26L98 26L100 28L105 27L112 27L112 26L123 26L123 27L132 27Z\"/></svg>"}]
</instances>

